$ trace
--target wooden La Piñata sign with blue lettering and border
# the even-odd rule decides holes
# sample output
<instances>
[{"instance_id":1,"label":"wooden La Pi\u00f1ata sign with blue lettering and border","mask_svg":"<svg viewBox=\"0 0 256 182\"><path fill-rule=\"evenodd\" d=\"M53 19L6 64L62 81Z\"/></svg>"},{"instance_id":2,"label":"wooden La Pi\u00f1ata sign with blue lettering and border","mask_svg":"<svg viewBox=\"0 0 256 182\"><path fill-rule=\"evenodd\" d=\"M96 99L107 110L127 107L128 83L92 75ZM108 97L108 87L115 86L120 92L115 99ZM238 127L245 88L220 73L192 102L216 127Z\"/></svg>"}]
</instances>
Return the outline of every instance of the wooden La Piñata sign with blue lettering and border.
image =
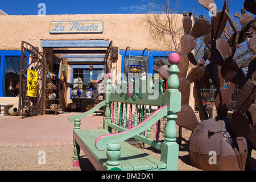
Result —
<instances>
[{"instance_id":1,"label":"wooden La Pi\u00f1ata sign with blue lettering and border","mask_svg":"<svg viewBox=\"0 0 256 182\"><path fill-rule=\"evenodd\" d=\"M102 33L103 21L51 21L49 22L50 34L71 34L71 33Z\"/></svg>"}]
</instances>

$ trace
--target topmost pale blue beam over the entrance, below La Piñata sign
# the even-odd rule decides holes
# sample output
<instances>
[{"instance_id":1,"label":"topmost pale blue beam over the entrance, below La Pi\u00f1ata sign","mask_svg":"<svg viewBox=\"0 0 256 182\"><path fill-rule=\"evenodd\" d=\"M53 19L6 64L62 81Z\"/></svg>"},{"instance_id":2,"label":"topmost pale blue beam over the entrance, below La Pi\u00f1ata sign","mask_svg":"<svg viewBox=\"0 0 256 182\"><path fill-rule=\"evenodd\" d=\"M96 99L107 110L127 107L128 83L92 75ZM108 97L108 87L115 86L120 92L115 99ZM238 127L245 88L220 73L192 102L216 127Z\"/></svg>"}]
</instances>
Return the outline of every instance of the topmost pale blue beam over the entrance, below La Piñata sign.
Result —
<instances>
[{"instance_id":1,"label":"topmost pale blue beam over the entrance, below La Pi\u00f1ata sign","mask_svg":"<svg viewBox=\"0 0 256 182\"><path fill-rule=\"evenodd\" d=\"M41 47L108 47L109 40L41 40Z\"/></svg>"}]
</instances>

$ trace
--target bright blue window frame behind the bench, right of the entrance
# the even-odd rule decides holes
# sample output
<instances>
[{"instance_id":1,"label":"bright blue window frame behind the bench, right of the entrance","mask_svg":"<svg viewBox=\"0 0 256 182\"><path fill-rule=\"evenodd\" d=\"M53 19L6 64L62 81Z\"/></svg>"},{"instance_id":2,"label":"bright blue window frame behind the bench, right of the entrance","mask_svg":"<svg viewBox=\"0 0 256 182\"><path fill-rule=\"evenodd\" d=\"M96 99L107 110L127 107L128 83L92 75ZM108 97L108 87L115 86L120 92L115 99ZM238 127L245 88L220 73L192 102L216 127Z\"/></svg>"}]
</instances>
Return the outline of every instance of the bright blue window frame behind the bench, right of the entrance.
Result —
<instances>
[{"instance_id":1,"label":"bright blue window frame behind the bench, right of the entrance","mask_svg":"<svg viewBox=\"0 0 256 182\"><path fill-rule=\"evenodd\" d=\"M130 51L130 56L142 56L143 51ZM154 64L158 65L157 61L162 59L165 64L168 64L168 56L172 51L148 51L148 74L153 75L156 71L153 70ZM122 66L121 66L121 81L123 80L123 75L125 73L125 50L120 50L119 54L122 56ZM144 52L147 55L147 52ZM126 58L129 56L129 52L126 52Z\"/></svg>"}]
</instances>

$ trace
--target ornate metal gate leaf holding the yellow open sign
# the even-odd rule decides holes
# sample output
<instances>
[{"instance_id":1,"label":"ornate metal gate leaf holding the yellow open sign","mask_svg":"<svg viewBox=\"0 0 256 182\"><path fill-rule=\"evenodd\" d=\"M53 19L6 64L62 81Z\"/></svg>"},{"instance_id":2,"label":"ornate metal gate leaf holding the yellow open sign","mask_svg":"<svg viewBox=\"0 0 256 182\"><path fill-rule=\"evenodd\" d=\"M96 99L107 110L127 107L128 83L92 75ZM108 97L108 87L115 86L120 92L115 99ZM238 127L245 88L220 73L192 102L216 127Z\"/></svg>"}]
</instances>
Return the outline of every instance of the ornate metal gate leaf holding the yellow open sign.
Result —
<instances>
[{"instance_id":1,"label":"ornate metal gate leaf holding the yellow open sign","mask_svg":"<svg viewBox=\"0 0 256 182\"><path fill-rule=\"evenodd\" d=\"M35 85L36 95L27 96L28 69L38 74ZM44 75L45 61L38 48L22 41L19 78L19 115L22 117L44 113Z\"/></svg>"}]
</instances>

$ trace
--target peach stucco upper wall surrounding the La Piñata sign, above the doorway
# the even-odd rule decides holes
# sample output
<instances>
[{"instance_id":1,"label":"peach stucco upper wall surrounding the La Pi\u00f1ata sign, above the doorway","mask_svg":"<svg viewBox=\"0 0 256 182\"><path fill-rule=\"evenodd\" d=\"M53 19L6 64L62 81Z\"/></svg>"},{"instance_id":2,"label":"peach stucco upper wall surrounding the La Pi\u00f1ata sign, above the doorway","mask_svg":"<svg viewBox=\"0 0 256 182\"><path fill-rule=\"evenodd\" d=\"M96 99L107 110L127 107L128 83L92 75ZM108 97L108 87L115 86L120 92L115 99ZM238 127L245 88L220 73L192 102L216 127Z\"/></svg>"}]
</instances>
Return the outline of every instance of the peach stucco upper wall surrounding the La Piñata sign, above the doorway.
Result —
<instances>
[{"instance_id":1,"label":"peach stucco upper wall surrounding the La Pi\u00f1ata sign, above the doorway","mask_svg":"<svg viewBox=\"0 0 256 182\"><path fill-rule=\"evenodd\" d=\"M163 43L154 42L148 28L142 23L143 14L92 14L92 15L22 15L0 16L0 50L20 50L21 41L40 47L40 40L113 40L113 46L125 49L152 51L162 49ZM182 26L183 15L175 15L175 24ZM103 20L102 34L49 34L49 22L62 20ZM177 39L179 40L179 39Z\"/></svg>"}]
</instances>

